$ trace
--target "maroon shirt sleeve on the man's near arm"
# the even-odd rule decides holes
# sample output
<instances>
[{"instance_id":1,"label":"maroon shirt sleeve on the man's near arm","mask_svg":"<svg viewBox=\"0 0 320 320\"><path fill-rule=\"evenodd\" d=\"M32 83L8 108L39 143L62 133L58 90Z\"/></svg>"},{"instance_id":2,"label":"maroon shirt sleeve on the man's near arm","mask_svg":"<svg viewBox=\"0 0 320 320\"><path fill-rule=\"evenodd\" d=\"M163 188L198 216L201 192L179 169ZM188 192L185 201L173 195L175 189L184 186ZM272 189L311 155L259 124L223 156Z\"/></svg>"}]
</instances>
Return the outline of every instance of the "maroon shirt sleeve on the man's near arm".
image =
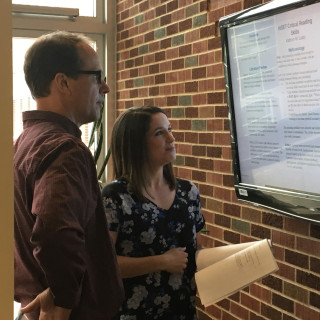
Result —
<instances>
[{"instance_id":1,"label":"maroon shirt sleeve on the man's near arm","mask_svg":"<svg viewBox=\"0 0 320 320\"><path fill-rule=\"evenodd\" d=\"M86 272L85 229L94 219L97 201L97 178L88 152L72 145L50 155L54 160L35 181L32 203L34 256L55 304L70 309L80 299Z\"/></svg>"}]
</instances>

